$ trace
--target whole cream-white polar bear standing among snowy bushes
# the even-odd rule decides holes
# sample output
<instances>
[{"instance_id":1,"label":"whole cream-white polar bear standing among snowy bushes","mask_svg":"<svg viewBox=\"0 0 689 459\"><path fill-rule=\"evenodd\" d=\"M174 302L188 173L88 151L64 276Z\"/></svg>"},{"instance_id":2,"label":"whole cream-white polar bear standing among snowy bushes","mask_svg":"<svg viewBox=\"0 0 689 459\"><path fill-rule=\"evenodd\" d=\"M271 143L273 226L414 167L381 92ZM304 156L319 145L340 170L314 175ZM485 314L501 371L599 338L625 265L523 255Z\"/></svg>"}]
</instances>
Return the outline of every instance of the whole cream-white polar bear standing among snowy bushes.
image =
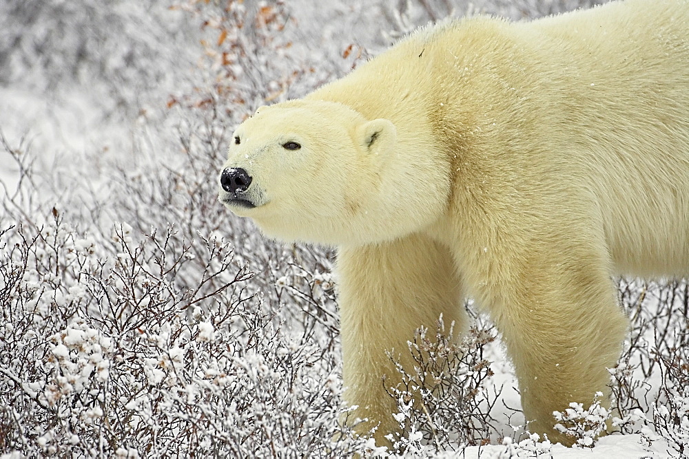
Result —
<instances>
[{"instance_id":1,"label":"whole cream-white polar bear standing among snowy bushes","mask_svg":"<svg viewBox=\"0 0 689 459\"><path fill-rule=\"evenodd\" d=\"M473 297L531 431L609 394L628 328L613 277L689 274L689 1L424 28L234 132L219 199L338 247L345 399L398 429L386 350Z\"/></svg>"}]
</instances>

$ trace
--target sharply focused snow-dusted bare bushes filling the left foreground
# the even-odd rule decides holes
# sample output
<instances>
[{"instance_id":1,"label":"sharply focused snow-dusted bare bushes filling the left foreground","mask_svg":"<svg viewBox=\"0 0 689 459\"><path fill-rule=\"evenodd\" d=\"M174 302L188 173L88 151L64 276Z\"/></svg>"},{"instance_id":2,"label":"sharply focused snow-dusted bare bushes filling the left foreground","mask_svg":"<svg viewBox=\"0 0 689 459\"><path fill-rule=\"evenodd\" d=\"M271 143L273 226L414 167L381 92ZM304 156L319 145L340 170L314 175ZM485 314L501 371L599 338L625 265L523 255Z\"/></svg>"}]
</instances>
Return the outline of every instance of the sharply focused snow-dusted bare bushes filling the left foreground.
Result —
<instances>
[{"instance_id":1,"label":"sharply focused snow-dusted bare bushes filling the left foreground","mask_svg":"<svg viewBox=\"0 0 689 459\"><path fill-rule=\"evenodd\" d=\"M58 213L35 233L2 233L3 449L353 451L337 423L337 378L322 373L336 364L275 327L276 312L247 292L254 274L234 263L228 244L201 235L187 243L174 228L138 238L125 224L110 247L96 240ZM344 440L331 444L336 432Z\"/></svg>"}]
</instances>

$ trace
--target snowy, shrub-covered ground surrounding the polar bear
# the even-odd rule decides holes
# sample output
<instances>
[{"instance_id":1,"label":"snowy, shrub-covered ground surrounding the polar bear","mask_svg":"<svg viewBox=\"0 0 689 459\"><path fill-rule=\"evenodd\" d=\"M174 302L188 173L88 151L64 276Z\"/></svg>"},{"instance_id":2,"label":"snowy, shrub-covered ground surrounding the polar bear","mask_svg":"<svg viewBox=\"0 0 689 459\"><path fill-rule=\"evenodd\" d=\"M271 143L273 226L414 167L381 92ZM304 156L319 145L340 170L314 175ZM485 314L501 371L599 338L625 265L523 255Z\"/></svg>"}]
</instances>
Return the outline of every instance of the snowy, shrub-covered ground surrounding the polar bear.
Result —
<instances>
[{"instance_id":1,"label":"snowy, shrub-covered ground surrounding the polar bear","mask_svg":"<svg viewBox=\"0 0 689 459\"><path fill-rule=\"evenodd\" d=\"M0 410L0 433L8 438L0 440L3 457L170 457L190 451L329 457L348 451L347 445L324 446L336 434L341 408L336 305L332 289L322 287L332 254L266 242L215 202L227 130L267 100L305 94L431 19L465 12L523 19L596 2L249 3L0 5L0 253L6 267L0 269L0 292L7 293L0 295L6 301L0 401L8 407ZM253 22L236 28L246 19ZM14 233L1 233L9 226ZM167 231L173 234L169 244L155 245ZM32 235L42 236L30 246ZM61 242L50 242L52 237ZM137 244L141 252L134 250ZM229 250L223 252L223 244L234 248L232 263L223 258ZM174 257L178 264L169 264ZM240 275L246 263L255 277ZM25 276L15 282L10 273L17 266ZM161 286L155 295L152 285ZM639 292L646 296L639 299ZM528 438L515 378L495 342L486 351L495 373L486 384L502 387L491 412L500 429L493 444L438 452L433 442L421 442L407 455L677 455L677 445L689 442L689 410L659 412L679 438L676 444L658 431L654 410L670 406L668 394L677 394L677 403L689 398L667 383L667 364L653 351L684 341L659 337L653 324L678 337L686 332L686 292L681 283L621 290L631 314L637 303L646 308L635 315L638 339L629 343L635 351L628 363L635 370L625 381L636 385L621 404L630 414L636 407L630 399L638 398L647 420L630 422L631 433L605 436L591 448ZM154 303L159 309L149 306ZM141 310L132 312L130 304ZM132 319L136 326L127 328L127 314L141 321ZM72 342L74 336L88 345ZM101 361L110 366L98 367ZM652 371L644 374L649 365ZM100 370L91 374L94 368ZM109 379L116 374L121 381ZM331 381L337 382L327 392ZM266 395L271 393L280 400ZM111 414L109 407L121 412ZM290 424L298 416L305 420ZM165 429L184 438L189 449L165 437ZM508 440L501 444L502 436Z\"/></svg>"}]
</instances>

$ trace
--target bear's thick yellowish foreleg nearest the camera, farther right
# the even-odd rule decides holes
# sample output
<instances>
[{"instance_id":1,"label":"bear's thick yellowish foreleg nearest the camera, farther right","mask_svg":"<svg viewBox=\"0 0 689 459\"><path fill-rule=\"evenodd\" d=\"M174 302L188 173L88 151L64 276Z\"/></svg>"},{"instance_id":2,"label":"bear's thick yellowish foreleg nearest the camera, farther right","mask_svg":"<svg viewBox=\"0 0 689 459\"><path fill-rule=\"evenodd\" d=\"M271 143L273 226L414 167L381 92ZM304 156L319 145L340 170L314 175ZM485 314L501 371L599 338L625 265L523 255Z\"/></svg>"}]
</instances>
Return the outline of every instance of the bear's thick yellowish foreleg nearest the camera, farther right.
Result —
<instances>
[{"instance_id":1,"label":"bear's thick yellowish foreleg nearest the camera, farther right","mask_svg":"<svg viewBox=\"0 0 689 459\"><path fill-rule=\"evenodd\" d=\"M529 430L565 445L574 439L553 429L553 411L564 412L571 402L586 409L596 392L609 402L607 368L615 366L628 328L606 264L597 260L532 258L511 301L495 314Z\"/></svg>"}]
</instances>

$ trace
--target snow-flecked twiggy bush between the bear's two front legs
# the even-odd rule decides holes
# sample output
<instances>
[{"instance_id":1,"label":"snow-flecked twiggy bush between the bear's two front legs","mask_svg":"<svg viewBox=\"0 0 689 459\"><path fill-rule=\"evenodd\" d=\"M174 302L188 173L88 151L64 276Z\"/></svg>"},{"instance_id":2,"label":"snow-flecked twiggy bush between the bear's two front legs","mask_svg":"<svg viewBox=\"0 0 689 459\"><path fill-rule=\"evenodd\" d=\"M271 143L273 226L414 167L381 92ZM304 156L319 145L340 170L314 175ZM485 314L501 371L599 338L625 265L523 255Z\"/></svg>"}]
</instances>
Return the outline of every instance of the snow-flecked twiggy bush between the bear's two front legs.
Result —
<instances>
[{"instance_id":1,"label":"snow-flecked twiggy bush between the bear's two front legs","mask_svg":"<svg viewBox=\"0 0 689 459\"><path fill-rule=\"evenodd\" d=\"M412 372L389 354L402 380L389 391L399 410L395 420L409 431L408 436L391 440L404 453L420 453L425 444L436 451L488 444L491 434L499 433L491 409L500 389L492 384L493 370L485 355L495 333L471 328L457 342L453 325L446 329L441 317L435 334L417 330L409 342Z\"/></svg>"}]
</instances>

